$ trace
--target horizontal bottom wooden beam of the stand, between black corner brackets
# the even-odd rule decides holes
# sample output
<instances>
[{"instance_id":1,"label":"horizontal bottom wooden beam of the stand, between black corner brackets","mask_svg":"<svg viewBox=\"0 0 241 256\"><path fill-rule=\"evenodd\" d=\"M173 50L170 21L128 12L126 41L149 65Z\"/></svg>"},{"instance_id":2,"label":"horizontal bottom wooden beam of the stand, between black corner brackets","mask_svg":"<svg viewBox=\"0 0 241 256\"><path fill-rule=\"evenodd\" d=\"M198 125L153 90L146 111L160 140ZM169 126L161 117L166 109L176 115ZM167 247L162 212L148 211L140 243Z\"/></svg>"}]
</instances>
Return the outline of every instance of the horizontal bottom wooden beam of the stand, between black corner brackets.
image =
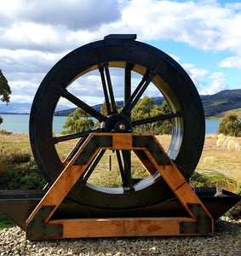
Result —
<instances>
[{"instance_id":1,"label":"horizontal bottom wooden beam of the stand, between black corner brackets","mask_svg":"<svg viewBox=\"0 0 241 256\"><path fill-rule=\"evenodd\" d=\"M62 238L180 236L180 222L193 218L86 218L52 220L63 224Z\"/></svg>"}]
</instances>

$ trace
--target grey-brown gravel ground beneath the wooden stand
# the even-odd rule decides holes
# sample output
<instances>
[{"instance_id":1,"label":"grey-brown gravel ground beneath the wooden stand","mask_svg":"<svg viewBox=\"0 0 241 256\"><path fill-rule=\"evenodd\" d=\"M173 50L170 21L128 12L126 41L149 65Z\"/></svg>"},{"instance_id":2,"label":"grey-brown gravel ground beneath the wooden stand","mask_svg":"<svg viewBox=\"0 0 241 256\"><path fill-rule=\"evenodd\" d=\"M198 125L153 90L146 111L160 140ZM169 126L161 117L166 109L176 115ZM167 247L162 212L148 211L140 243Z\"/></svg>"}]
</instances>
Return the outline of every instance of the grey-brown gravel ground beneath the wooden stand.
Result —
<instances>
[{"instance_id":1,"label":"grey-brown gravel ground beneath the wooden stand","mask_svg":"<svg viewBox=\"0 0 241 256\"><path fill-rule=\"evenodd\" d=\"M221 218L214 236L91 238L27 241L18 227L0 231L0 255L241 256L241 220Z\"/></svg>"}]
</instances>

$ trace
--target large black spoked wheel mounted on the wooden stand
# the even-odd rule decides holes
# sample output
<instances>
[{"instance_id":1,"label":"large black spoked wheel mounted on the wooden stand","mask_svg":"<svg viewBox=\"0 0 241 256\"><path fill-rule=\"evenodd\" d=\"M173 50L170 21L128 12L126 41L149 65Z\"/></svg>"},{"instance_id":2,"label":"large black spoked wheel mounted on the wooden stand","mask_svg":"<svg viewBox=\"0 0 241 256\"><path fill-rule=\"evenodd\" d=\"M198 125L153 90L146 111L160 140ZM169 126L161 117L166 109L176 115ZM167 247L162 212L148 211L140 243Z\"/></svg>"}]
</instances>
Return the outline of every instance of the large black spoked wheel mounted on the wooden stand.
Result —
<instances>
[{"instance_id":1,"label":"large black spoked wheel mounted on the wooden stand","mask_svg":"<svg viewBox=\"0 0 241 256\"><path fill-rule=\"evenodd\" d=\"M116 109L115 84L111 68L123 70L124 106L121 113ZM97 70L107 114L97 112L89 104L73 95L69 86L90 72ZM133 87L132 78L141 76ZM131 113L148 86L154 84L169 105L169 114L155 118L131 120ZM89 87L95 90L95 84ZM77 108L82 108L101 123L95 131L76 133L61 137L53 136L55 108L64 97ZM113 107L113 108L112 108ZM163 51L148 44L135 41L135 35L107 36L91 44L73 50L55 64L40 84L32 103L30 117L30 140L37 166L47 182L53 183L64 169L55 144L90 132L132 132L136 125L171 119L171 140L167 154L175 162L182 175L192 176L204 147L204 110L198 91L183 68ZM121 125L119 125L121 124ZM100 151L96 164L104 152ZM80 179L72 188L68 199L77 203L105 209L129 209L144 207L163 201L170 191L158 173L139 183L132 182L129 168L131 154L116 151L119 171L123 177L122 188L102 188ZM95 163L94 163L95 167ZM94 167L92 169L94 169ZM93 172L93 170L91 170Z\"/></svg>"}]
</instances>

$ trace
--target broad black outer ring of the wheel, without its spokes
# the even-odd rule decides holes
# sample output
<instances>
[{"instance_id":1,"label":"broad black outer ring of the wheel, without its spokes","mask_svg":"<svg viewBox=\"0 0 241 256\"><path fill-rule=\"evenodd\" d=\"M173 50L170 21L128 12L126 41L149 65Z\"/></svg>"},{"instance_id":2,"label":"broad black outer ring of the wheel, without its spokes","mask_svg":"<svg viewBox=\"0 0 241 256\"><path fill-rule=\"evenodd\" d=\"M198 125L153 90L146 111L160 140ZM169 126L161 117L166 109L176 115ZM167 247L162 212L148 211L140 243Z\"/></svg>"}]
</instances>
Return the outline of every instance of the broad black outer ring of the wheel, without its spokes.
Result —
<instances>
[{"instance_id":1,"label":"broad black outer ring of the wheel, without its spokes","mask_svg":"<svg viewBox=\"0 0 241 256\"><path fill-rule=\"evenodd\" d=\"M180 108L182 113L181 142L180 137L173 137L168 153L182 175L186 179L191 177L202 153L205 135L204 109L192 80L176 61L159 49L133 40L108 39L86 44L63 57L49 71L37 90L30 115L30 141L37 166L47 182L53 183L63 170L52 131L61 90L66 89L78 76L104 62L114 67L116 63L118 67L125 67L127 62L135 63L134 70L142 74L146 68L156 70L157 77L162 81L155 79L153 83L161 84L159 89L165 98L175 99L176 105L180 104L176 108ZM180 144L178 154L175 153L176 140ZM141 207L164 200L169 195L169 188L163 178L146 189L127 195L109 195L88 186L84 186L81 195L76 195L78 186L76 184L72 188L69 199L104 208Z\"/></svg>"}]
</instances>

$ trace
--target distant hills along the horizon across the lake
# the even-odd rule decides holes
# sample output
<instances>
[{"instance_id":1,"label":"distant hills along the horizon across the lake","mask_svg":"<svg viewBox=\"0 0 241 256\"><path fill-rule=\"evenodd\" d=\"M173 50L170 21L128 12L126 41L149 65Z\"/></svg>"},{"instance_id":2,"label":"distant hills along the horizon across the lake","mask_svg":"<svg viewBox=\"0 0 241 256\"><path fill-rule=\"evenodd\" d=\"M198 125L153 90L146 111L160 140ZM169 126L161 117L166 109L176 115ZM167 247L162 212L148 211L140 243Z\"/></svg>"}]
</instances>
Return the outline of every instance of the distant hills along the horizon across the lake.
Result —
<instances>
[{"instance_id":1,"label":"distant hills along the horizon across the lake","mask_svg":"<svg viewBox=\"0 0 241 256\"><path fill-rule=\"evenodd\" d=\"M224 117L226 113L235 112L240 115L241 108L241 89L237 90L221 90L214 95L200 96L204 105L205 117L215 116ZM164 97L151 98L158 106L164 102ZM95 110L100 112L102 104L93 106ZM0 104L0 113L30 113L31 103L5 103ZM118 102L120 108L123 107L123 101ZM58 106L55 112L56 116L68 116L74 112L76 108L67 108L66 106Z\"/></svg>"}]
</instances>

